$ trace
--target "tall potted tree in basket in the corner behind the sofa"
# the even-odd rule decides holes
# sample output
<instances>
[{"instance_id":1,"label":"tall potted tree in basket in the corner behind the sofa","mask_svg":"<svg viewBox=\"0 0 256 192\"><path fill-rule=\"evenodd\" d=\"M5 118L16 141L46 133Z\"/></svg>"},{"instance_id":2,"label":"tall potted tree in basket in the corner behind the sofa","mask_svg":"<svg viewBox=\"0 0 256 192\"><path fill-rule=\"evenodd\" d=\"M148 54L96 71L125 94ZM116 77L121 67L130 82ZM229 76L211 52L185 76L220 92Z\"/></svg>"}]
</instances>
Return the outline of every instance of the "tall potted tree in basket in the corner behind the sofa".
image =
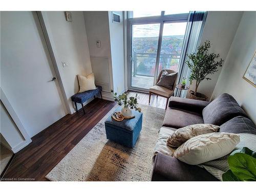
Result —
<instances>
[{"instance_id":1,"label":"tall potted tree in basket in the corner behind the sofa","mask_svg":"<svg viewBox=\"0 0 256 192\"><path fill-rule=\"evenodd\" d=\"M186 64L188 68L191 70L191 74L189 77L190 84L193 80L196 80L196 89L195 91L190 91L191 99L198 100L206 100L207 97L198 93L197 89L204 79L209 80L210 78L206 77L209 74L214 74L218 71L218 67L222 67L223 59L216 60L220 57L220 54L216 53L208 53L208 49L210 48L210 41L206 40L204 45L199 46L197 48L197 53L188 54L188 60L186 60Z\"/></svg>"}]
</instances>

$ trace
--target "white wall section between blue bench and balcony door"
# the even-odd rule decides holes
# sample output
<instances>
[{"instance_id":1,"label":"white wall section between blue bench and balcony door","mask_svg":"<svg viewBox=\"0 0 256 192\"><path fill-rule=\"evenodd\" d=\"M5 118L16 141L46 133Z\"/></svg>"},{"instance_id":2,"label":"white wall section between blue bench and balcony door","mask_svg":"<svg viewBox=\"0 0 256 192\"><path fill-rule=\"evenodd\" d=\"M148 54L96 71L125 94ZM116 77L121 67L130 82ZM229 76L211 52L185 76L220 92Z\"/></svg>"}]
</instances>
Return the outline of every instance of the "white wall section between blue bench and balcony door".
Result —
<instances>
[{"instance_id":1,"label":"white wall section between blue bench and balcony door","mask_svg":"<svg viewBox=\"0 0 256 192\"><path fill-rule=\"evenodd\" d=\"M111 90L119 94L125 91L124 85L124 45L123 12L121 23L112 22L112 11L85 11L89 50L96 84L102 86L103 98L113 100ZM101 47L96 46L100 40Z\"/></svg>"}]
</instances>

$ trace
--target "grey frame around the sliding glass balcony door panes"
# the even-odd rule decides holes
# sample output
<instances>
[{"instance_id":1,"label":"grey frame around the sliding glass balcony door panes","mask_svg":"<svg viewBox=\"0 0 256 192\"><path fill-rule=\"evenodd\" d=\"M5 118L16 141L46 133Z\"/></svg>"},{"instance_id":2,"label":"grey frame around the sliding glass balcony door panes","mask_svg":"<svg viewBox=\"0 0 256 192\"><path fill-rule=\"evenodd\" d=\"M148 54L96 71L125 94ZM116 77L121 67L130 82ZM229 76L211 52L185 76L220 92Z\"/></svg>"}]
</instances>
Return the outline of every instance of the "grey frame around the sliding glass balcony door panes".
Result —
<instances>
[{"instance_id":1,"label":"grey frame around the sliding glass balcony door panes","mask_svg":"<svg viewBox=\"0 0 256 192\"><path fill-rule=\"evenodd\" d=\"M129 14L129 13L128 13ZM150 17L139 17L139 18L128 18L127 22L127 85L128 89L131 91L139 91L143 93L148 93L148 89L136 88L132 87L132 26L133 25L144 25L144 24L160 24L159 36L158 36L158 48L157 48L157 56L156 56L156 67L154 74L154 84L156 83L157 74L158 74L158 66L160 60L160 51L161 51L161 42L162 42L162 33L164 23L181 23L188 22L190 13L182 13L182 14L174 14L174 15L164 15L164 11L161 12L160 16L150 16ZM186 30L187 31L187 30ZM185 34L186 36L186 34ZM184 37L185 39L185 37ZM184 50L184 40L183 40L183 48ZM181 55L182 56L182 55ZM181 59L180 59L181 61ZM180 65L180 63L179 63Z\"/></svg>"}]
</instances>

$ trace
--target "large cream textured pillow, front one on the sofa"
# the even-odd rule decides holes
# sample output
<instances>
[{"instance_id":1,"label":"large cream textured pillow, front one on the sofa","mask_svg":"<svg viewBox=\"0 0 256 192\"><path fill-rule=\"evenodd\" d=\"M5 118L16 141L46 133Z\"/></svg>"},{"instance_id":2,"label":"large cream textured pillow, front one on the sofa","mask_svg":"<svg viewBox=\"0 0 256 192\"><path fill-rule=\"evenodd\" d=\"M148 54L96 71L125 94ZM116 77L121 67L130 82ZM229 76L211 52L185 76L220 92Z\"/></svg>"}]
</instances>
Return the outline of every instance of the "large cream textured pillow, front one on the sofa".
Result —
<instances>
[{"instance_id":1,"label":"large cream textured pillow, front one on the sofa","mask_svg":"<svg viewBox=\"0 0 256 192\"><path fill-rule=\"evenodd\" d=\"M174 157L190 165L198 165L223 157L240 142L233 133L208 133L187 140L174 152Z\"/></svg>"}]
</instances>

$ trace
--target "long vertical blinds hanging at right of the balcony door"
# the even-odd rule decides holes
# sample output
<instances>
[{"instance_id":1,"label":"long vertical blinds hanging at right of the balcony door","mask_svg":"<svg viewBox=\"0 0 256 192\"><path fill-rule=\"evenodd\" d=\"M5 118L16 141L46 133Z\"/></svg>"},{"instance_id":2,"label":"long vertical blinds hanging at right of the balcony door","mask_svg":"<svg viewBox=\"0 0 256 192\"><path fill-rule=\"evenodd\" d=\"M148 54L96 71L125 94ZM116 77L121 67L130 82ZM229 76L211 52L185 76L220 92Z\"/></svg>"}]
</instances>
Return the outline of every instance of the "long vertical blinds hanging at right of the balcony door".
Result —
<instances>
[{"instance_id":1,"label":"long vertical blinds hanging at right of the balcony door","mask_svg":"<svg viewBox=\"0 0 256 192\"><path fill-rule=\"evenodd\" d=\"M178 83L181 83L182 78L184 77L187 79L187 85L189 85L188 78L190 75L190 70L188 69L185 61L187 59L187 54L195 52L200 44L206 16L207 12L205 11L193 11L189 14L186 35L184 38L184 45L187 46L183 46L184 50L181 56L181 65L177 79ZM177 95L177 89L175 90L175 95ZM187 90L183 90L181 92L181 97L185 98L186 95Z\"/></svg>"}]
</instances>

